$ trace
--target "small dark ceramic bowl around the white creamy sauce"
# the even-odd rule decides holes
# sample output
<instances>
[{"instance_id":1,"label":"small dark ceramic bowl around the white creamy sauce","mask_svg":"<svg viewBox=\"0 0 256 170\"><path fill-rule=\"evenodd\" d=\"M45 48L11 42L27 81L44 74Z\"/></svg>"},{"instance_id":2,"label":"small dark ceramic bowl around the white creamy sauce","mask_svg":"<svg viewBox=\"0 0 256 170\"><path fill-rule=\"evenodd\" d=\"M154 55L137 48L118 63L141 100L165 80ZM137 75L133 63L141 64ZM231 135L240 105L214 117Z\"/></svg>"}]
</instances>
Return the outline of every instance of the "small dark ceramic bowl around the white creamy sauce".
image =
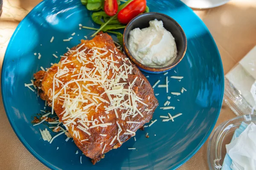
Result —
<instances>
[{"instance_id":1,"label":"small dark ceramic bowl around the white creamy sauce","mask_svg":"<svg viewBox=\"0 0 256 170\"><path fill-rule=\"evenodd\" d=\"M147 28L149 27L149 21L154 19L163 21L164 28L166 28L167 31L171 32L171 34L175 38L175 43L177 46L176 59L172 62L172 64L163 67L151 67L140 63L131 55L128 48L128 39L131 30L133 30L134 28ZM148 73L163 73L171 70L183 59L187 48L186 35L180 25L171 17L157 12L148 12L132 19L125 28L123 43L125 54L128 55L128 57L137 65L138 68L140 68L140 70Z\"/></svg>"}]
</instances>

